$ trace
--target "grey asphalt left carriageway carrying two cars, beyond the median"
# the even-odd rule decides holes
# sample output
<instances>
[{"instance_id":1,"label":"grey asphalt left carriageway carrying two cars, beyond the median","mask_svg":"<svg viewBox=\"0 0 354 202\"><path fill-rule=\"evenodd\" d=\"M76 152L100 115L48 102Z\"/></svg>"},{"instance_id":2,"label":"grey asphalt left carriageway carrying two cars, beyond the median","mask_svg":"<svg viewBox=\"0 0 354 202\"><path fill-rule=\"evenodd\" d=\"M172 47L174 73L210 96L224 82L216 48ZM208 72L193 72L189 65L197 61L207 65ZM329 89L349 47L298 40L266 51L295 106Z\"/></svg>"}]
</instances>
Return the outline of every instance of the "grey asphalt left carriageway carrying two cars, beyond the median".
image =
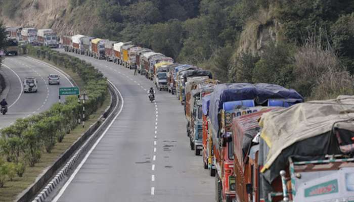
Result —
<instances>
[{"instance_id":1,"label":"grey asphalt left carriageway carrying two cars, beyond the median","mask_svg":"<svg viewBox=\"0 0 354 202\"><path fill-rule=\"evenodd\" d=\"M70 81L63 74L48 65L22 56L5 58L2 71L4 72L3 76L9 82L9 93L6 97L9 105L8 113L5 116L0 115L0 128L13 124L18 118L29 117L48 110L53 104L58 103L59 87L71 87ZM60 85L48 85L47 76L50 73L60 75ZM23 92L22 86L26 77L37 79L38 90L36 93Z\"/></svg>"}]
</instances>

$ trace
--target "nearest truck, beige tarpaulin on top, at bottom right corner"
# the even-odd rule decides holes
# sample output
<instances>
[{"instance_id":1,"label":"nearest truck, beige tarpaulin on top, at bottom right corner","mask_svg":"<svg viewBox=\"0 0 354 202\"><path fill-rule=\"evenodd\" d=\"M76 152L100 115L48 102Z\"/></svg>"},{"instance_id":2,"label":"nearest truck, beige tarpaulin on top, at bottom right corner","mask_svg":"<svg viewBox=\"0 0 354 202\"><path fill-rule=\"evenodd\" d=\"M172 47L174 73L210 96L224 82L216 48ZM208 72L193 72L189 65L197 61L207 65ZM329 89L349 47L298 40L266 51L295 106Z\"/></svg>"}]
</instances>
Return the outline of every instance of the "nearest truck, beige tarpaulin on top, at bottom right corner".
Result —
<instances>
[{"instance_id":1,"label":"nearest truck, beige tarpaulin on top, at bottom right corner","mask_svg":"<svg viewBox=\"0 0 354 202\"><path fill-rule=\"evenodd\" d=\"M255 177L240 201L352 201L353 105L354 96L340 95L263 114Z\"/></svg>"}]
</instances>

